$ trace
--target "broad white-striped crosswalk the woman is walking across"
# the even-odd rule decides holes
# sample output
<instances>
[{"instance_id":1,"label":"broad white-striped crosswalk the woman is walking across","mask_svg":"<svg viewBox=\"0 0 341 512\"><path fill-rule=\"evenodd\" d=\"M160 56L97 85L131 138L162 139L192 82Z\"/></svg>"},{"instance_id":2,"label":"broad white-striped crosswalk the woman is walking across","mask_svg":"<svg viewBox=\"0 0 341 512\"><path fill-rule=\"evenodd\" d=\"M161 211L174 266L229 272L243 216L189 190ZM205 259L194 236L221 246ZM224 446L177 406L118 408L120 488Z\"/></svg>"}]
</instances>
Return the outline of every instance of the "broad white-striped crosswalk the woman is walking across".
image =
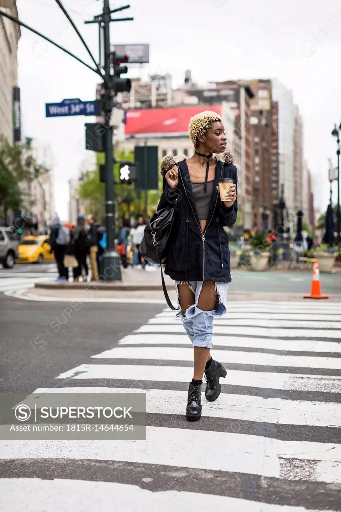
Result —
<instances>
[{"instance_id":1,"label":"broad white-striped crosswalk the woman is walking across","mask_svg":"<svg viewBox=\"0 0 341 512\"><path fill-rule=\"evenodd\" d=\"M1 442L9 476L0 510L336 512L340 325L337 304L231 304L216 319L212 352L228 372L222 394L207 402L203 393L192 424L193 349L164 310L36 390L145 392L147 440Z\"/></svg>"}]
</instances>

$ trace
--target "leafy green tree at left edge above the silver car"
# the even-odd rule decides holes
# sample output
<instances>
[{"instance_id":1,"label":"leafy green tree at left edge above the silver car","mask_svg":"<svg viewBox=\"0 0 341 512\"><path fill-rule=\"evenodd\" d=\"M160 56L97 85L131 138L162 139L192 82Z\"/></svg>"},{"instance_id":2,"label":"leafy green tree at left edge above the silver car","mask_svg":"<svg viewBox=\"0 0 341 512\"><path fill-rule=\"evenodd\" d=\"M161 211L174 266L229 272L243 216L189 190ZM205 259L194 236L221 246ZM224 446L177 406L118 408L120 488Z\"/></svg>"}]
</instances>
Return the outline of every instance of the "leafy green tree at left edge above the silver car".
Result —
<instances>
[{"instance_id":1,"label":"leafy green tree at left edge above the silver car","mask_svg":"<svg viewBox=\"0 0 341 512\"><path fill-rule=\"evenodd\" d=\"M0 210L5 220L9 210L20 208L24 202L19 184L34 178L32 166L36 166L36 162L27 154L28 149L27 144L12 146L0 135Z\"/></svg>"}]
</instances>

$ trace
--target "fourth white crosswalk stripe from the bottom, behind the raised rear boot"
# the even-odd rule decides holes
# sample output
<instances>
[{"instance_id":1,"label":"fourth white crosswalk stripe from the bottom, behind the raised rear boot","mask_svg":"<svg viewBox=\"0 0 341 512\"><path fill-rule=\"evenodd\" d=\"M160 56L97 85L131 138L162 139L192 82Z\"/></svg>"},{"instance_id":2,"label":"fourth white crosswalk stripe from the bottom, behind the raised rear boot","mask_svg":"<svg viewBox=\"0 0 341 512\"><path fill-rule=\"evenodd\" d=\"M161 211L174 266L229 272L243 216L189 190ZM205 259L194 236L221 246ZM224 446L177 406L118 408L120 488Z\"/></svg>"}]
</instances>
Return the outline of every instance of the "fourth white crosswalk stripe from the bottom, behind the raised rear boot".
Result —
<instances>
[{"instance_id":1,"label":"fourth white crosswalk stripe from the bottom, behind the raised rear boot","mask_svg":"<svg viewBox=\"0 0 341 512\"><path fill-rule=\"evenodd\" d=\"M120 379L154 382L190 382L193 368L155 365L80 365L60 374L58 379ZM321 375L294 375L290 373L242 372L229 370L222 383L229 386L276 389L287 391L319 391L341 393L341 377Z\"/></svg>"}]
</instances>

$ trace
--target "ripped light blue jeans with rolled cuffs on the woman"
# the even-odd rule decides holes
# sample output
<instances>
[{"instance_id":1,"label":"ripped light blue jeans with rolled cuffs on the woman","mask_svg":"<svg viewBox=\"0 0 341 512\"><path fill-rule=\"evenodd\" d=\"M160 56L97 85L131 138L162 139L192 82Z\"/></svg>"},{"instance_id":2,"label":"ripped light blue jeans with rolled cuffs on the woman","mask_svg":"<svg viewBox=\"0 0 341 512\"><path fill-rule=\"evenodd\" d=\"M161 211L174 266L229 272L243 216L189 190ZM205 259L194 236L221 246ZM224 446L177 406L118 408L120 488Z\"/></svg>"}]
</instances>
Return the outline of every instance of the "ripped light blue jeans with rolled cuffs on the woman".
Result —
<instances>
[{"instance_id":1,"label":"ripped light blue jeans with rolled cuffs on the woman","mask_svg":"<svg viewBox=\"0 0 341 512\"><path fill-rule=\"evenodd\" d=\"M179 281L176 281L175 283L178 294L178 304L181 307L178 287L181 286L182 283ZM177 318L181 317L187 336L193 343L194 347L212 349L214 318L215 316L223 316L227 313L228 283L216 283L216 290L219 298L216 309L213 311L203 311L198 307L203 281L191 281L187 284L195 295L195 303L187 309L186 316L183 316L182 311L180 310L177 314Z\"/></svg>"}]
</instances>

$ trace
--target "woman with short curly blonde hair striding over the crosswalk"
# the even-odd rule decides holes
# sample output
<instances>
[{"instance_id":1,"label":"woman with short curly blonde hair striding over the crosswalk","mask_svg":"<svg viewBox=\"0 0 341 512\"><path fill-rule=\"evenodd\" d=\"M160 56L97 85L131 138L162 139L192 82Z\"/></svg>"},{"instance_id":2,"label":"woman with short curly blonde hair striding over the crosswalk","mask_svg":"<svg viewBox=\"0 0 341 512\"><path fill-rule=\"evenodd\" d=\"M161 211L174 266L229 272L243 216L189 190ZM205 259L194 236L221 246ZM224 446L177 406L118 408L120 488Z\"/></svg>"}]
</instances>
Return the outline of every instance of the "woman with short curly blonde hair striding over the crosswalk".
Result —
<instances>
[{"instance_id":1,"label":"woman with short curly blonde hair striding over the crosswalk","mask_svg":"<svg viewBox=\"0 0 341 512\"><path fill-rule=\"evenodd\" d=\"M194 346L194 378L189 385L186 417L201 418L201 386L205 374L206 399L217 400L220 377L227 372L212 359L213 321L226 313L227 287L231 282L228 237L224 226L237 220L237 167L225 153L227 144L222 118L203 112L189 123L189 136L195 154L186 159L165 157L161 174L163 194L158 210L176 206L174 241L169 250L165 273L176 282L185 331ZM218 154L216 158L213 154ZM218 184L233 179L229 193L221 201ZM226 199L226 201L225 201Z\"/></svg>"}]
</instances>

